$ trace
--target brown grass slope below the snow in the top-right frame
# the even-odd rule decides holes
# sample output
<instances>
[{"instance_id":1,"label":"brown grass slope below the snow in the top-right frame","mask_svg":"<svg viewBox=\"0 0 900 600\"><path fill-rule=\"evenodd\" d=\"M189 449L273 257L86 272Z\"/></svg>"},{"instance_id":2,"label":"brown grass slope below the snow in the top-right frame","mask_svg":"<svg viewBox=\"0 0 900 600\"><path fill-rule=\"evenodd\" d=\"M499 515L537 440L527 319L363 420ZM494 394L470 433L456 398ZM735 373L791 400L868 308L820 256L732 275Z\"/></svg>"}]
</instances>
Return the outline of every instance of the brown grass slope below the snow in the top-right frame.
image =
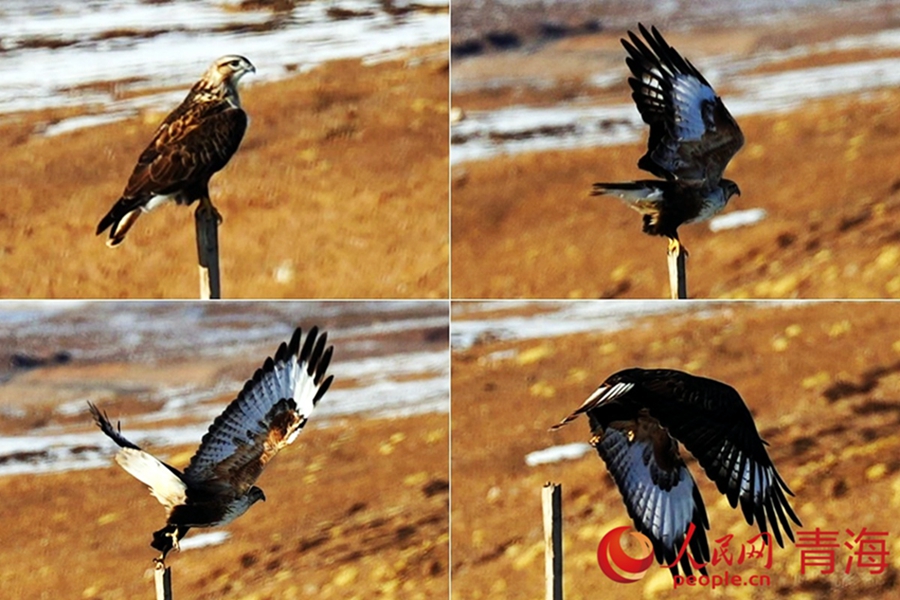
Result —
<instances>
[{"instance_id":1,"label":"brown grass slope below the snow in the top-right frame","mask_svg":"<svg viewBox=\"0 0 900 600\"><path fill-rule=\"evenodd\" d=\"M727 176L760 224L681 229L694 298L900 296L900 92L741 119ZM454 168L453 297L664 298L665 241L591 183L642 177L642 144L499 157ZM490 260L484 260L490 257Z\"/></svg>"}]
</instances>

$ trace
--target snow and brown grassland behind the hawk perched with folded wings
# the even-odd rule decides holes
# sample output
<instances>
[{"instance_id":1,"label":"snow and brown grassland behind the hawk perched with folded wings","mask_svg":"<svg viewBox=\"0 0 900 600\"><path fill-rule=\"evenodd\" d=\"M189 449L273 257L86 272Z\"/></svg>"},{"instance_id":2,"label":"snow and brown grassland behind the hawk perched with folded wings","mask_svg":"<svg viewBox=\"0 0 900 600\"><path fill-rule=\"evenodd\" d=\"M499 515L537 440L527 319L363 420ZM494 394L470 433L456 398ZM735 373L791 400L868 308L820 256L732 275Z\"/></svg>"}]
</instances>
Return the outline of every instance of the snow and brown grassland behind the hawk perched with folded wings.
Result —
<instances>
[{"instance_id":1,"label":"snow and brown grassland behind the hawk perched with folded wings","mask_svg":"<svg viewBox=\"0 0 900 600\"><path fill-rule=\"evenodd\" d=\"M216 58L241 54L257 69L241 82L251 125L211 184L225 295L445 297L448 12L446 0L4 2L0 296L196 297L189 210L142 219L122 252L94 229L162 119Z\"/></svg>"}]
</instances>

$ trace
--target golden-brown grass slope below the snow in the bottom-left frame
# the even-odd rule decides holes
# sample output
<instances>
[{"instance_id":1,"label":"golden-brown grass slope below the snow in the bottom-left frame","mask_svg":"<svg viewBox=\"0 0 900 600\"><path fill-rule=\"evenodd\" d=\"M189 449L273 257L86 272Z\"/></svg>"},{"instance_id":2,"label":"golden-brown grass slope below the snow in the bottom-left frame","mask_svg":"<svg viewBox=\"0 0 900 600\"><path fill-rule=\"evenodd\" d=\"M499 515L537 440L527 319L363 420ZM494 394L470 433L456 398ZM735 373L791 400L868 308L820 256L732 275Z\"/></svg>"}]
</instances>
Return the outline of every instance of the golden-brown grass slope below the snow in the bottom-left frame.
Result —
<instances>
[{"instance_id":1,"label":"golden-brown grass slope below the snow in the bottom-left frame","mask_svg":"<svg viewBox=\"0 0 900 600\"><path fill-rule=\"evenodd\" d=\"M230 539L169 556L174 597L446 597L447 447L446 414L310 425ZM117 465L3 477L0 493L16 515L0 531L6 597L152 596L164 510Z\"/></svg>"}]
</instances>

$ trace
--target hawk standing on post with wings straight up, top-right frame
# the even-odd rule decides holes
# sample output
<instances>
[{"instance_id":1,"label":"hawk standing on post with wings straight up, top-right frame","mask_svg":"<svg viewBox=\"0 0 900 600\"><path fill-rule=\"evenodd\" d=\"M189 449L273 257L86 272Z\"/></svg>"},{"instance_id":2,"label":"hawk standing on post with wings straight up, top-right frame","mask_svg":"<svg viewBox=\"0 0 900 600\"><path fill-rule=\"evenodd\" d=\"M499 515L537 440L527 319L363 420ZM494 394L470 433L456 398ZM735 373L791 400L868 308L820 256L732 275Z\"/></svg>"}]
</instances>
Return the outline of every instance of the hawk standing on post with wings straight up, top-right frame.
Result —
<instances>
[{"instance_id":1,"label":"hawk standing on post with wings straight up, top-right frame","mask_svg":"<svg viewBox=\"0 0 900 600\"><path fill-rule=\"evenodd\" d=\"M622 45L628 78L644 122L650 125L647 153L638 168L663 179L595 183L592 196L623 199L644 218L644 233L669 238L680 252L678 227L709 219L728 203L738 185L722 179L744 135L709 82L666 43L656 27L638 25L646 44L629 31Z\"/></svg>"}]
</instances>

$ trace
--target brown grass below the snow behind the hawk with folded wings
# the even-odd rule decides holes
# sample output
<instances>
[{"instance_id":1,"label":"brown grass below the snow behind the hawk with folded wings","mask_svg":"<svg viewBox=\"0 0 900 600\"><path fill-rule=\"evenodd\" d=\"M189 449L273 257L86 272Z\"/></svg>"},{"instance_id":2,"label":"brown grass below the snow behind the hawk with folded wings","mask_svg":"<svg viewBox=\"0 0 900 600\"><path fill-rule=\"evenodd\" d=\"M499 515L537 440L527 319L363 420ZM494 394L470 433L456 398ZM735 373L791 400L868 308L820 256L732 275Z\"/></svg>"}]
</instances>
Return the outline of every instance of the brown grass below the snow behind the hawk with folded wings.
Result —
<instances>
[{"instance_id":1,"label":"brown grass below the snow behind the hawk with folded wings","mask_svg":"<svg viewBox=\"0 0 900 600\"><path fill-rule=\"evenodd\" d=\"M225 297L447 296L444 51L243 91L250 128L211 189ZM28 135L46 114L0 127L0 297L197 297L193 208L145 215L117 250L94 236L169 108L53 138Z\"/></svg>"}]
</instances>

